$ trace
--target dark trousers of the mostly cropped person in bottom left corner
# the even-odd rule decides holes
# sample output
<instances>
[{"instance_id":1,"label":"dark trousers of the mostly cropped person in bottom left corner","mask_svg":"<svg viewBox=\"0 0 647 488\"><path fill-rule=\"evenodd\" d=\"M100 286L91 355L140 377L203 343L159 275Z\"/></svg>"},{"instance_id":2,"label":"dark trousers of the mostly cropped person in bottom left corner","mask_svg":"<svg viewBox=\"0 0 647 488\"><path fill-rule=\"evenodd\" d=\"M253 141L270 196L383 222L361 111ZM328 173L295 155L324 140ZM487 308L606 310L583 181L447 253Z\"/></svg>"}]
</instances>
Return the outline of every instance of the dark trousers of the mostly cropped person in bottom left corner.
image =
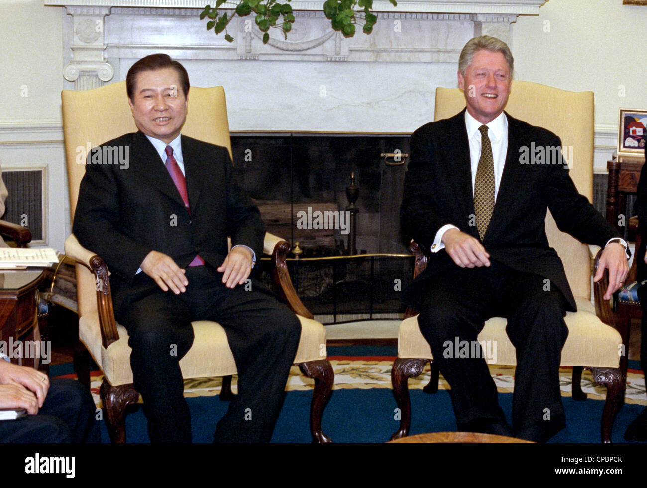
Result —
<instances>
[{"instance_id":1,"label":"dark trousers of the mostly cropped person in bottom left corner","mask_svg":"<svg viewBox=\"0 0 647 488\"><path fill-rule=\"evenodd\" d=\"M92 395L73 379L51 379L38 414L0 420L0 442L98 443Z\"/></svg>"}]
</instances>

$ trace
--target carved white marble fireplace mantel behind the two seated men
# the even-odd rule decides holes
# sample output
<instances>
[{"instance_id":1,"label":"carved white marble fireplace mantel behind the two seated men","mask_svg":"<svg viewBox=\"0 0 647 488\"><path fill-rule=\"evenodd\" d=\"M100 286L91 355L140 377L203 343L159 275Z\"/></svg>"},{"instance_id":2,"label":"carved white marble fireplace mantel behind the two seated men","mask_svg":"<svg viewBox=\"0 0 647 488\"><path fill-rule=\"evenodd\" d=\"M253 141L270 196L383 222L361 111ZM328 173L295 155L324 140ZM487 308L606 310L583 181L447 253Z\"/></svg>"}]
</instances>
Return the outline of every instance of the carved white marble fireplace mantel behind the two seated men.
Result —
<instances>
[{"instance_id":1,"label":"carved white marble fireplace mantel behind the two seated men","mask_svg":"<svg viewBox=\"0 0 647 488\"><path fill-rule=\"evenodd\" d=\"M402 0L397 7L374 0L373 33L358 29L353 38L331 28L323 0L292 0L291 32L285 39L270 30L267 45L252 16L234 18L228 28L233 43L206 31L198 17L209 2L45 0L52 13L61 11L66 86L124 80L135 60L166 52L187 67L193 85L225 86L234 131L407 132L428 119L435 86L455 86L468 39L496 36L514 52L512 24L518 16L538 15L545 0ZM290 89L284 111L267 106L259 71L267 85ZM371 100L362 99L358 87Z\"/></svg>"}]
</instances>

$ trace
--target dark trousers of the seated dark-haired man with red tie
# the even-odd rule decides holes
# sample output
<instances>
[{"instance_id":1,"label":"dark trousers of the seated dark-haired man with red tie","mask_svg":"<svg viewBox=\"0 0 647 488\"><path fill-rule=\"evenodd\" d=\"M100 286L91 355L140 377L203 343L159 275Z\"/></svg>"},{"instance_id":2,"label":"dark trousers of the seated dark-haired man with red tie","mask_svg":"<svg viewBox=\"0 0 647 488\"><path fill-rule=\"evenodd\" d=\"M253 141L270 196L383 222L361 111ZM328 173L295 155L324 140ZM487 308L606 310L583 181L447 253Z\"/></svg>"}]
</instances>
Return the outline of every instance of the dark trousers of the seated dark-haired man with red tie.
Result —
<instances>
[{"instance_id":1,"label":"dark trousers of the seated dark-haired man with red tie","mask_svg":"<svg viewBox=\"0 0 647 488\"><path fill-rule=\"evenodd\" d=\"M222 276L209 265L188 267L186 292L175 295L138 275L135 293L118 316L129 334L133 383L144 400L153 442L192 439L179 360L193 343L193 320L221 324L236 360L238 394L214 441L269 442L272 437L301 324L262 285L228 289Z\"/></svg>"}]
</instances>

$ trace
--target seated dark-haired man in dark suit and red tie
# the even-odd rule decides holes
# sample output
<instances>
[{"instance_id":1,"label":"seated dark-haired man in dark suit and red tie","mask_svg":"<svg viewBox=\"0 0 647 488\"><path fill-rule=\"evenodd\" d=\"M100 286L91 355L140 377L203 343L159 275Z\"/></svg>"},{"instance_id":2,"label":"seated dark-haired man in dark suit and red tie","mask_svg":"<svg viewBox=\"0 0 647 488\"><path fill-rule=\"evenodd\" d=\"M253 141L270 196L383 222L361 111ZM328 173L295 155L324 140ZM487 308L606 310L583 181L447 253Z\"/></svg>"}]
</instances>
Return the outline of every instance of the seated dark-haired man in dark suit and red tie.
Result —
<instances>
[{"instance_id":1,"label":"seated dark-haired man in dark suit and red tie","mask_svg":"<svg viewBox=\"0 0 647 488\"><path fill-rule=\"evenodd\" d=\"M263 252L258 208L234 181L225 148L180 134L189 91L180 63L146 56L126 85L139 131L100 154L126 148L127 164L91 164L88 155L73 230L111 270L151 441L191 441L179 360L193 342L192 320L225 327L236 360L238 394L214 441L269 441L301 325L259 283L241 286Z\"/></svg>"}]
</instances>

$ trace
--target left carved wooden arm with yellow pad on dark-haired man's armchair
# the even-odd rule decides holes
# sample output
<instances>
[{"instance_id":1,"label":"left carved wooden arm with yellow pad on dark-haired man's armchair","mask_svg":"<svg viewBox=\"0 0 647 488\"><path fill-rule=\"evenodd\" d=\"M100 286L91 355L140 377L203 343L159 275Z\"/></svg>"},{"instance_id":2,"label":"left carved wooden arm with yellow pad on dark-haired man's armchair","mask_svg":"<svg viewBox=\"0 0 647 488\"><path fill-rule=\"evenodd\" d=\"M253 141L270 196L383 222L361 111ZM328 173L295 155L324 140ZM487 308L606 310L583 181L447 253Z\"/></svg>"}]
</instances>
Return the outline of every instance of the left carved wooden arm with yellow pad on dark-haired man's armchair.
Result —
<instances>
[{"instance_id":1,"label":"left carved wooden arm with yellow pad on dark-haired man's armchair","mask_svg":"<svg viewBox=\"0 0 647 488\"><path fill-rule=\"evenodd\" d=\"M74 234L65 239L65 255L76 263L86 267L96 278L96 305L101 328L101 342L104 348L119 339L113 310L113 298L110 294L108 267L99 256L80 245Z\"/></svg>"}]
</instances>

